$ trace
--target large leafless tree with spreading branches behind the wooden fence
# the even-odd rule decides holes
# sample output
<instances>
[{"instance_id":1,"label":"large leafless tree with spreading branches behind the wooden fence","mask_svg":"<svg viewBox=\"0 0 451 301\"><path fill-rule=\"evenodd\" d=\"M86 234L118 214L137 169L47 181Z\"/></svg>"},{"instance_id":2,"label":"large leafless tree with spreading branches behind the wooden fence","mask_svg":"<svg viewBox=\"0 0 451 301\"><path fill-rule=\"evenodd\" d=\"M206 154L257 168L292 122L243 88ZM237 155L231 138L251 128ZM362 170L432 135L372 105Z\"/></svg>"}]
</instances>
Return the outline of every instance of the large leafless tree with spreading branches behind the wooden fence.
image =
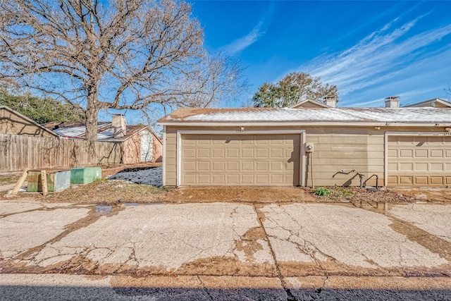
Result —
<instances>
[{"instance_id":1,"label":"large leafless tree with spreading branches behind the wooden fence","mask_svg":"<svg viewBox=\"0 0 451 301\"><path fill-rule=\"evenodd\" d=\"M0 21L0 80L85 106L87 140L99 109L180 99L204 54L184 1L0 0Z\"/></svg>"}]
</instances>

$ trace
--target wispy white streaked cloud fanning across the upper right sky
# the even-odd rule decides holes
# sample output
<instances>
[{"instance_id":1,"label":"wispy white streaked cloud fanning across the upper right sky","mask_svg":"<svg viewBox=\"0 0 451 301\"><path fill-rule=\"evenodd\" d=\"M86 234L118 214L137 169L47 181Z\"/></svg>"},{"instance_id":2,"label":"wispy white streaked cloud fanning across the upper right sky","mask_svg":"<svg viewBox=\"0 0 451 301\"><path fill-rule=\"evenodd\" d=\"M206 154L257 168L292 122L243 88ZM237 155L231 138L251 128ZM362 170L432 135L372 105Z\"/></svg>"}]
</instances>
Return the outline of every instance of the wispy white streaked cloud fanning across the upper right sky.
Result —
<instances>
[{"instance_id":1,"label":"wispy white streaked cloud fanning across the upper right sky","mask_svg":"<svg viewBox=\"0 0 451 301\"><path fill-rule=\"evenodd\" d=\"M448 49L443 47L427 52L426 47L450 35L451 25L412 35L412 27L422 17L400 27L395 27L398 21L395 19L381 30L372 32L354 47L335 56L319 56L303 70L311 75L321 76L324 82L337 85L340 95L345 96L387 82L404 73L412 63L433 62L433 56L440 56L444 51L448 52ZM440 66L440 61L438 64ZM373 102L376 100L364 104Z\"/></svg>"}]
</instances>

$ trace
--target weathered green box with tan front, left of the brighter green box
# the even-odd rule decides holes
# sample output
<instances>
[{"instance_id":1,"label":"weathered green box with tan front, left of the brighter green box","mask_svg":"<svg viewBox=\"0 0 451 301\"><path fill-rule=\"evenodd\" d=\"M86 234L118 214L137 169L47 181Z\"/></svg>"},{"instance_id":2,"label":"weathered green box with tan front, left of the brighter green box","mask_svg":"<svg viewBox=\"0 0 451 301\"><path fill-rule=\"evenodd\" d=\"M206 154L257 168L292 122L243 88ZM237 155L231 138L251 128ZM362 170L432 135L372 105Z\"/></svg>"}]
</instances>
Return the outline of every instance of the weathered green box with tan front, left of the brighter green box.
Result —
<instances>
[{"instance_id":1,"label":"weathered green box with tan front, left of the brighter green box","mask_svg":"<svg viewBox=\"0 0 451 301\"><path fill-rule=\"evenodd\" d=\"M70 171L61 169L47 169L47 190L61 191L70 187ZM41 192L41 171L28 171L28 192Z\"/></svg>"}]
</instances>

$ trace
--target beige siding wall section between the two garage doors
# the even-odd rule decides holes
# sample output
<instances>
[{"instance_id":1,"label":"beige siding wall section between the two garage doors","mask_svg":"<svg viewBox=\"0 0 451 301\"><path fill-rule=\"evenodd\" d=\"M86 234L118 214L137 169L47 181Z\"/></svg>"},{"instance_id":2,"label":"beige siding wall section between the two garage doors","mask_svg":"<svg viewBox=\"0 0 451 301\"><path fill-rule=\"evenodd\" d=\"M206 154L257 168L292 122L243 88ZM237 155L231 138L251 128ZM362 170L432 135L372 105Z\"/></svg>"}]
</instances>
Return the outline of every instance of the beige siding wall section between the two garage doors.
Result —
<instances>
[{"instance_id":1,"label":"beige siding wall section between the two garage doors","mask_svg":"<svg viewBox=\"0 0 451 301\"><path fill-rule=\"evenodd\" d=\"M383 185L383 131L366 128L308 128L307 143L314 144L314 152L311 156L307 154L305 185L311 186L313 178L315 186L358 186L360 178L357 173L364 174L364 185L376 185L376 176L373 175L377 175L378 184Z\"/></svg>"}]
</instances>

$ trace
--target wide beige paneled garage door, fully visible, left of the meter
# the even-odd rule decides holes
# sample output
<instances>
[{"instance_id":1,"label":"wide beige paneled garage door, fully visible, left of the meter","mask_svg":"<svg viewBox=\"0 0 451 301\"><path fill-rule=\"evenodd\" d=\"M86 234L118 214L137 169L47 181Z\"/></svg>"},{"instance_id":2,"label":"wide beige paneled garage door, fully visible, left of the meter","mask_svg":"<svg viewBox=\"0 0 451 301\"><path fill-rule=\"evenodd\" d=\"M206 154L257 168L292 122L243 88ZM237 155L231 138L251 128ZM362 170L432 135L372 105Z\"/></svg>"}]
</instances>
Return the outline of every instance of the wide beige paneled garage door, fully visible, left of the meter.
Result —
<instances>
[{"instance_id":1,"label":"wide beige paneled garage door, fully visible, left of the meter","mask_svg":"<svg viewBox=\"0 0 451 301\"><path fill-rule=\"evenodd\" d=\"M300 135L183 135L182 185L297 186Z\"/></svg>"}]
</instances>

